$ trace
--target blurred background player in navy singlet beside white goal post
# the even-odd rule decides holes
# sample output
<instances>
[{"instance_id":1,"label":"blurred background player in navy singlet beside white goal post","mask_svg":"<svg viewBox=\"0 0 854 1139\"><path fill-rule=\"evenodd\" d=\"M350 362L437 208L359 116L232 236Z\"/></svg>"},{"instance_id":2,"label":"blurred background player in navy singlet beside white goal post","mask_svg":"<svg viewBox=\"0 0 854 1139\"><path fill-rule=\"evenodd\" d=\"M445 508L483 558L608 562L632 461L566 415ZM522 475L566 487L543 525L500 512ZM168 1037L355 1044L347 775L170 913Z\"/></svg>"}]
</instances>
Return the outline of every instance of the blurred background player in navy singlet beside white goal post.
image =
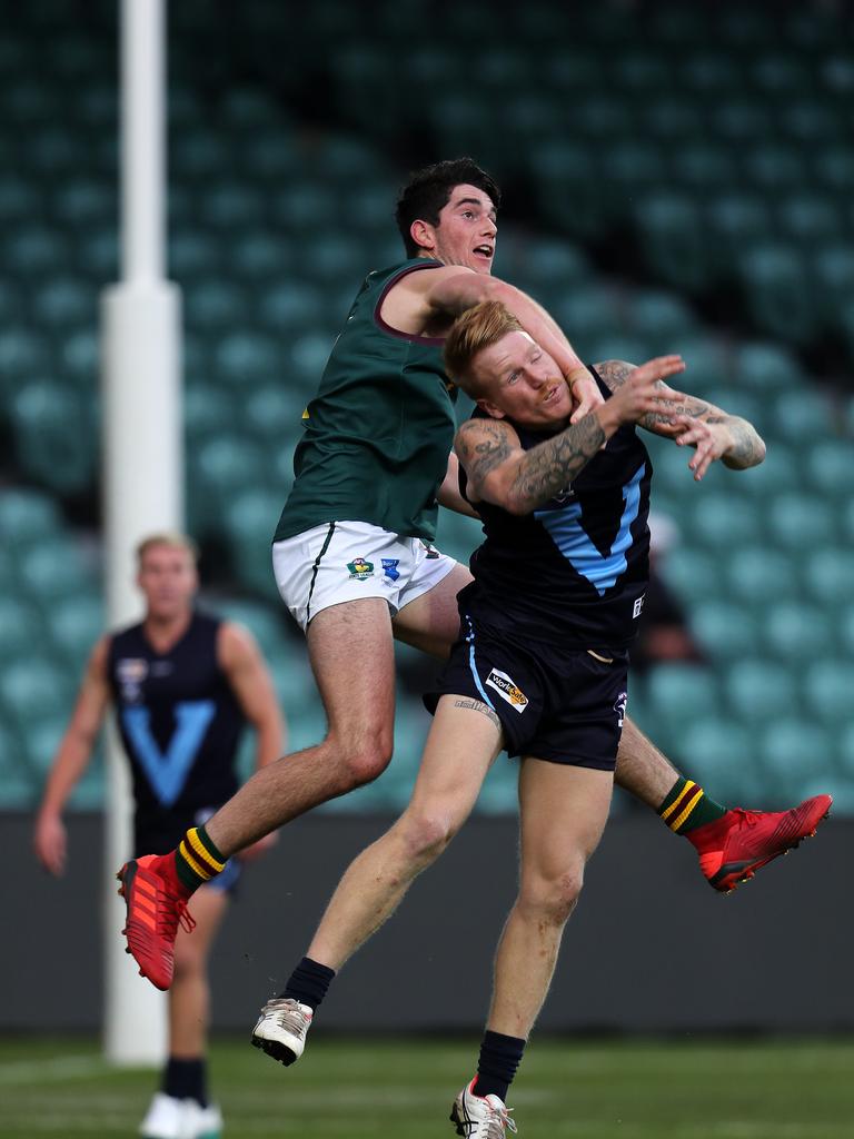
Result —
<instances>
[{"instance_id":1,"label":"blurred background player in navy singlet beside white goal post","mask_svg":"<svg viewBox=\"0 0 854 1139\"><path fill-rule=\"evenodd\" d=\"M109 703L131 764L137 853L171 850L188 826L203 822L235 793L247 721L257 734L257 767L282 751L281 715L254 640L194 607L198 579L190 542L154 535L138 556L145 617L95 646L39 811L35 850L51 874L61 874L65 865L63 808L89 763ZM179 934L169 1062L140 1129L148 1139L196 1139L220 1130L219 1109L206 1091L207 957L238 875L232 861L200 890L192 908L196 928Z\"/></svg>"}]
</instances>

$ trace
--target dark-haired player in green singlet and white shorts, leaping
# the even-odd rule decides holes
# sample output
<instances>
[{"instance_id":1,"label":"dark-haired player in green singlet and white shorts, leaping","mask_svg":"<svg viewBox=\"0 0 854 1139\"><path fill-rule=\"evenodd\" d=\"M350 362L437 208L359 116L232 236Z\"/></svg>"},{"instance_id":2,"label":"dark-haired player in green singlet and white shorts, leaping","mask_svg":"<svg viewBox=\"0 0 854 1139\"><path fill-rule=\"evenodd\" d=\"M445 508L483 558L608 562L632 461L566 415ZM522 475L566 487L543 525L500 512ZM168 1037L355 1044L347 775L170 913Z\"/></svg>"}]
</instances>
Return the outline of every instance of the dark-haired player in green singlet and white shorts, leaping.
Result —
<instances>
[{"instance_id":1,"label":"dark-haired player in green singlet and white shorts, leaping","mask_svg":"<svg viewBox=\"0 0 854 1139\"><path fill-rule=\"evenodd\" d=\"M445 656L457 638L457 595L471 575L434 549L437 500L473 513L449 459L452 387L442 346L453 320L501 301L549 353L574 399L573 420L602 402L555 321L492 277L499 190L471 159L417 173L397 203L407 256L368 274L335 342L297 445L296 480L273 542L279 592L305 631L328 719L319 744L258 772L167 858L124 868L174 920L153 933L126 891L129 944L142 973L170 985L170 934L204 876L303 811L379 776L393 748L393 638ZM725 818L703 866L716 888L752 872L718 874L744 820L724 812L631 723L617 778L679 833ZM195 861L184 851L192 846ZM770 849L773 843L770 842ZM712 868L709 868L712 867Z\"/></svg>"}]
</instances>

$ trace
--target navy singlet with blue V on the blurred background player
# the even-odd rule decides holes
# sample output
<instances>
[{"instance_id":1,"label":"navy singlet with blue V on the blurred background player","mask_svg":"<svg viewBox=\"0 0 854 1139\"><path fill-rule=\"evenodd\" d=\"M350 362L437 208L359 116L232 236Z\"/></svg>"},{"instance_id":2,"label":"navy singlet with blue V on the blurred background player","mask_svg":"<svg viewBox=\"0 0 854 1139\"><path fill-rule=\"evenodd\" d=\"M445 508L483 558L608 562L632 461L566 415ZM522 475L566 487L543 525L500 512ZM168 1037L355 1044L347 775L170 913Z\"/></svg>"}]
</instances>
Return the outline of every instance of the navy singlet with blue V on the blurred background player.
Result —
<instances>
[{"instance_id":1,"label":"navy singlet with blue V on the blurred background player","mask_svg":"<svg viewBox=\"0 0 854 1139\"><path fill-rule=\"evenodd\" d=\"M237 790L244 715L216 659L217 617L194 613L157 653L141 624L113 636L107 677L131 763L138 834L178 833Z\"/></svg>"}]
</instances>

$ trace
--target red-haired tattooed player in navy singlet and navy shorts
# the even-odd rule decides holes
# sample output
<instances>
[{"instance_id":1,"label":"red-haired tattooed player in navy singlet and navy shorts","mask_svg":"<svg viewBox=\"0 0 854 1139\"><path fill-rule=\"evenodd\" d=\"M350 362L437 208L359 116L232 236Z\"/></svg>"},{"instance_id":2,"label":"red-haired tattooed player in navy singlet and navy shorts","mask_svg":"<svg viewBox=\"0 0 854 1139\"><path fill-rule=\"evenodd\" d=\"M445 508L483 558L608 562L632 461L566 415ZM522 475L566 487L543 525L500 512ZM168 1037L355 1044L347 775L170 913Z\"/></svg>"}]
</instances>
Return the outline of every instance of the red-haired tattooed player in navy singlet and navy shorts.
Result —
<instances>
[{"instance_id":1,"label":"red-haired tattooed player in navy singlet and navy shorts","mask_svg":"<svg viewBox=\"0 0 854 1139\"><path fill-rule=\"evenodd\" d=\"M457 321L445 359L478 404L455 450L485 532L459 595L460 638L428 700L435 720L409 808L351 865L253 1039L285 1064L302 1054L335 972L445 849L506 748L522 757L520 887L495 957L478 1074L452 1114L459 1134L500 1139L516 1131L507 1090L608 816L627 649L648 583L651 465L635 424L696 448L698 480L718 459L755 466L765 449L744 419L663 383L682 371L679 357L598 364L605 400L573 424L556 361L500 303ZM829 805L819 796L773 819L814 829Z\"/></svg>"}]
</instances>

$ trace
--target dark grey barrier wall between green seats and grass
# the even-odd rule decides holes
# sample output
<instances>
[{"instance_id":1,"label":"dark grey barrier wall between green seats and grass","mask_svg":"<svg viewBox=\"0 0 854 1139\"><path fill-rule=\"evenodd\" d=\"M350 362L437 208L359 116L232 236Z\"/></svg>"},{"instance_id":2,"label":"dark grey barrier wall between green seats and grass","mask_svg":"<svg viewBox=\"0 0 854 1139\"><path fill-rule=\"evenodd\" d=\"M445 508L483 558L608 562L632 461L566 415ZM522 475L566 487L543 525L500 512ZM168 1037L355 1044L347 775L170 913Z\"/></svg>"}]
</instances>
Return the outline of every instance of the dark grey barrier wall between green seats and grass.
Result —
<instances>
[{"instance_id":1,"label":"dark grey barrier wall between green seats and grass","mask_svg":"<svg viewBox=\"0 0 854 1139\"><path fill-rule=\"evenodd\" d=\"M301 819L247 871L215 951L216 1026L248 1031L304 952L346 862L387 821ZM35 866L30 835L28 817L0 817L0 1030L93 1029L101 1013L100 820L71 819L71 865L60 882ZM542 1027L854 1029L853 850L854 820L831 819L722 898L701 879L684 839L651 817L614 820L567 927ZM473 820L338 978L323 1024L479 1029L515 883L515 820ZM122 916L116 899L116 936Z\"/></svg>"}]
</instances>

